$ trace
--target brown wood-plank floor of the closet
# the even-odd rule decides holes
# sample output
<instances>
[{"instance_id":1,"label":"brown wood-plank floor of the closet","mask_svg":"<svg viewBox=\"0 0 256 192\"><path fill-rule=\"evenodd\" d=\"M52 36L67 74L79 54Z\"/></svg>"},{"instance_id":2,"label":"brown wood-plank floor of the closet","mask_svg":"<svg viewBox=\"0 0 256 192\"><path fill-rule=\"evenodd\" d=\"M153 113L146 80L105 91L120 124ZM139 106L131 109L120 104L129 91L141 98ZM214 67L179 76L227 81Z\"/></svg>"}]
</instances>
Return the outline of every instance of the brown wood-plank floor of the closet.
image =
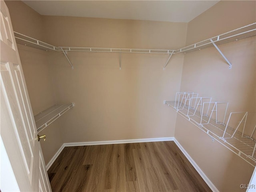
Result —
<instances>
[{"instance_id":1,"label":"brown wood-plank floor of the closet","mask_svg":"<svg viewBox=\"0 0 256 192\"><path fill-rule=\"evenodd\" d=\"M65 147L48 175L53 192L211 191L173 141Z\"/></svg>"}]
</instances>

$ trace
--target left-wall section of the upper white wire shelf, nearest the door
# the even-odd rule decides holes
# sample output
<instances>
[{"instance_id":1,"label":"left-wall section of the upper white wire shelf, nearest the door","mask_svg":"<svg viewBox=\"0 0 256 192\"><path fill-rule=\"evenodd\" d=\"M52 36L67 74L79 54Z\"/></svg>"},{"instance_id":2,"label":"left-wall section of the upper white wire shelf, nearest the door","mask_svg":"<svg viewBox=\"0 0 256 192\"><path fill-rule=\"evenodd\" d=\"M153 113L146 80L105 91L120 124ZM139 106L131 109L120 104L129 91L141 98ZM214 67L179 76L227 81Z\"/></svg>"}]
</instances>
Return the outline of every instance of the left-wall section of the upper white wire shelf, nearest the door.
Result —
<instances>
[{"instance_id":1,"label":"left-wall section of the upper white wire shelf, nearest the door","mask_svg":"<svg viewBox=\"0 0 256 192\"><path fill-rule=\"evenodd\" d=\"M62 52L62 50L56 46L44 43L42 41L36 40L34 38L28 37L26 35L20 34L18 32L14 32L14 36L16 39L16 43L30 46L33 48L37 48L44 51L58 51Z\"/></svg>"}]
</instances>

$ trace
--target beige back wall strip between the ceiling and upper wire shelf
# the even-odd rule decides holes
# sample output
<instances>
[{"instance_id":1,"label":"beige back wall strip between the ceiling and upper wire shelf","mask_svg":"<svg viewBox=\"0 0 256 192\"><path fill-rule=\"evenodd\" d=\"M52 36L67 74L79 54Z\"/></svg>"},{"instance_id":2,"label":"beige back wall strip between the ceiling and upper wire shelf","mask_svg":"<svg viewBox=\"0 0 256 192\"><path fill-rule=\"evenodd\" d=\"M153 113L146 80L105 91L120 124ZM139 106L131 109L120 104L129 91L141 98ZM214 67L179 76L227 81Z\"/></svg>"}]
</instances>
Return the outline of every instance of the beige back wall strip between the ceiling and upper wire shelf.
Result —
<instances>
[{"instance_id":1,"label":"beige back wall strip between the ceiling and upper wire shelf","mask_svg":"<svg viewBox=\"0 0 256 192\"><path fill-rule=\"evenodd\" d=\"M64 16L43 16L43 22L55 46L178 49L186 41L187 23Z\"/></svg>"}]
</instances>

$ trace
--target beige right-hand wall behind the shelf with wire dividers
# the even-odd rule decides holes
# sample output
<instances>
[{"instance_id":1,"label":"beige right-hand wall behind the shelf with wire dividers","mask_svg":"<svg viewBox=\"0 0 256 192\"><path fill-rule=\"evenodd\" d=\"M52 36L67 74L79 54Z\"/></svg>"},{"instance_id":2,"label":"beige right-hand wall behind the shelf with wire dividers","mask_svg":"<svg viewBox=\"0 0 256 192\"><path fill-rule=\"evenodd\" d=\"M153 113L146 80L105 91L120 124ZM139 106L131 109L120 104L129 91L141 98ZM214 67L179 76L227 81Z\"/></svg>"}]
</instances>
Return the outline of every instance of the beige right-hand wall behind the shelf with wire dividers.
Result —
<instances>
[{"instance_id":1,"label":"beige right-hand wall behind the shelf with wire dividers","mask_svg":"<svg viewBox=\"0 0 256 192\"><path fill-rule=\"evenodd\" d=\"M220 1L188 23L186 44L256 21L255 1ZM184 57L181 91L211 96L213 101L229 102L228 115L235 111L256 111L256 38L246 38L219 46L232 63L232 69L212 47ZM255 137L255 136L254 136ZM230 152L199 128L180 116L175 138L220 191L243 191L253 167Z\"/></svg>"}]
</instances>

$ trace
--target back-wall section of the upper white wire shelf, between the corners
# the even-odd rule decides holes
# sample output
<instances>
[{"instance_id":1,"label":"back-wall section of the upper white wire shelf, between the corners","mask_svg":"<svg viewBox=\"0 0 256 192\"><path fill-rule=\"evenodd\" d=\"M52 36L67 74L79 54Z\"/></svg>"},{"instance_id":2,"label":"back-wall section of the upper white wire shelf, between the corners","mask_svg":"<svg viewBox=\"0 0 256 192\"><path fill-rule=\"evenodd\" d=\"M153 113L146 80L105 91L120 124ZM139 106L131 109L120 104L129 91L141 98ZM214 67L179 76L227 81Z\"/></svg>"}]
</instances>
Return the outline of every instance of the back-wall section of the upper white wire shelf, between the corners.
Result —
<instances>
[{"instance_id":1,"label":"back-wall section of the upper white wire shelf, between the corners","mask_svg":"<svg viewBox=\"0 0 256 192\"><path fill-rule=\"evenodd\" d=\"M64 51L84 52L118 52L118 53L172 53L174 50L165 49L122 49L122 48L88 48L88 47L60 47Z\"/></svg>"}]
</instances>

